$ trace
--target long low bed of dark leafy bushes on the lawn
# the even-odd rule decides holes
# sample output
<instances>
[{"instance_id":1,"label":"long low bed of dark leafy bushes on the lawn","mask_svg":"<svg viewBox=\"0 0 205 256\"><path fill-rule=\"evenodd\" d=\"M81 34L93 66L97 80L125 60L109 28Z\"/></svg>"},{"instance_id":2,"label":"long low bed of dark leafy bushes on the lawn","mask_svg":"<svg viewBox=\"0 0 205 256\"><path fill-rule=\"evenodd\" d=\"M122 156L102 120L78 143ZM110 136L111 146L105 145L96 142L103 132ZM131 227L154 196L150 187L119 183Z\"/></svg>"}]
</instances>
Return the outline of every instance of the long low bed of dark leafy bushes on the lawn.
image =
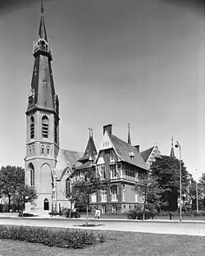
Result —
<instances>
[{"instance_id":1,"label":"long low bed of dark leafy bushes on the lawn","mask_svg":"<svg viewBox=\"0 0 205 256\"><path fill-rule=\"evenodd\" d=\"M103 235L94 235L87 231L53 231L26 226L0 226L0 239L21 240L73 249L82 249L85 246L105 241Z\"/></svg>"}]
</instances>

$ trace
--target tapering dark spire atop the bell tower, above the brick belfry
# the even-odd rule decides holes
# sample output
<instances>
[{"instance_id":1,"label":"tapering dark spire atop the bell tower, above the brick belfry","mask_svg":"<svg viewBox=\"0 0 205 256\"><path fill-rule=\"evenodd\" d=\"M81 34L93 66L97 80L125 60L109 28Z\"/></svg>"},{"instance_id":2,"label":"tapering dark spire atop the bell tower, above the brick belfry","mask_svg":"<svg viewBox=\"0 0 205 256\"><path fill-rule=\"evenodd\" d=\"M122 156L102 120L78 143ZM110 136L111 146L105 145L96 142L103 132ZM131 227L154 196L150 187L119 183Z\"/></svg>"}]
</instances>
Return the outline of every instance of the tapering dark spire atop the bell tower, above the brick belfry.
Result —
<instances>
[{"instance_id":1,"label":"tapering dark spire atop the bell tower, above the brick belfry","mask_svg":"<svg viewBox=\"0 0 205 256\"><path fill-rule=\"evenodd\" d=\"M59 101L52 78L52 53L48 45L43 13L43 0L41 0L39 38L34 43L34 71L30 94L28 94L27 111L37 107L41 110L56 112L58 116Z\"/></svg>"}]
</instances>

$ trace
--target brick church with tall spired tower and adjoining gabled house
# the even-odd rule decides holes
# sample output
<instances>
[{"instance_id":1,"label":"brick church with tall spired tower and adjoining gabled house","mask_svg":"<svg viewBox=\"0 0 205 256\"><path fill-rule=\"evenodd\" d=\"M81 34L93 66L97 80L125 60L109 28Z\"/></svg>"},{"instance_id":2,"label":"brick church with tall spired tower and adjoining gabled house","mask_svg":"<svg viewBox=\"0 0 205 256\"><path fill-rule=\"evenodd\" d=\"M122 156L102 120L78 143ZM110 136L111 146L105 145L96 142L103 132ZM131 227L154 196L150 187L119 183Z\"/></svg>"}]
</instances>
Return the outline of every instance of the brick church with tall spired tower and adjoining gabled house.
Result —
<instances>
[{"instance_id":1,"label":"brick church with tall spired tower and adjoining gabled house","mask_svg":"<svg viewBox=\"0 0 205 256\"><path fill-rule=\"evenodd\" d=\"M97 151L93 131L84 153L61 149L59 145L59 99L52 77L52 51L46 33L43 4L39 38L34 42L34 69L27 96L25 182L34 186L38 199L26 204L26 212L58 211L70 208L71 181L84 176L92 167L101 177L109 179L111 189L98 191L90 198L93 207L102 213L121 213L142 204L134 191L134 181L146 171L156 155L157 145L139 152L130 139L125 142L112 132L112 125L103 126L103 139ZM71 178L72 176L72 178Z\"/></svg>"}]
</instances>

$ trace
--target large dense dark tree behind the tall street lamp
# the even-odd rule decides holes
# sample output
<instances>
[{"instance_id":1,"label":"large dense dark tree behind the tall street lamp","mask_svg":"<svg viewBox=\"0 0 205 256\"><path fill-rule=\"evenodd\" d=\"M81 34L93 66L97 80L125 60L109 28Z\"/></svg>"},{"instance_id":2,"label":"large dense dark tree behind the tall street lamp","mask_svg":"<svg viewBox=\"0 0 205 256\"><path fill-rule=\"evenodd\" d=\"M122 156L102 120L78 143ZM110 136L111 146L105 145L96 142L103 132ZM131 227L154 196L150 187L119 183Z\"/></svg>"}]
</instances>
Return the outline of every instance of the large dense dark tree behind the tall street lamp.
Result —
<instances>
[{"instance_id":1,"label":"large dense dark tree behind the tall street lamp","mask_svg":"<svg viewBox=\"0 0 205 256\"><path fill-rule=\"evenodd\" d=\"M156 179L162 190L162 209L176 211L180 195L180 161L177 158L160 156L150 167L151 176ZM188 193L189 173L181 161L182 194Z\"/></svg>"}]
</instances>

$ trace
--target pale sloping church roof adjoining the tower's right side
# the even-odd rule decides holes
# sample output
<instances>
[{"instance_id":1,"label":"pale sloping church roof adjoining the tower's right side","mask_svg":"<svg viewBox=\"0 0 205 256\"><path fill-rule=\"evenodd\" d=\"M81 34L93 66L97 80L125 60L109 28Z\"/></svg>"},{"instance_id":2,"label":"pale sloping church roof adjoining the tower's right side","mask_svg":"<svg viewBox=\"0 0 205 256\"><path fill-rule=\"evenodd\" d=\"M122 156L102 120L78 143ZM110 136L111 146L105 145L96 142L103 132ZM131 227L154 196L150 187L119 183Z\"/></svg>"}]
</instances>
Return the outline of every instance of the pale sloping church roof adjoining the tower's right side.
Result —
<instances>
[{"instance_id":1,"label":"pale sloping church roof adjoining the tower's right side","mask_svg":"<svg viewBox=\"0 0 205 256\"><path fill-rule=\"evenodd\" d=\"M65 170L67 170L67 168L69 168L70 171L72 171L74 167L79 167L81 163L78 162L78 159L81 158L82 156L82 152L59 149L57 155L57 165L53 169L53 173L54 175L57 176L57 179L62 179L62 176L65 173Z\"/></svg>"}]
</instances>

